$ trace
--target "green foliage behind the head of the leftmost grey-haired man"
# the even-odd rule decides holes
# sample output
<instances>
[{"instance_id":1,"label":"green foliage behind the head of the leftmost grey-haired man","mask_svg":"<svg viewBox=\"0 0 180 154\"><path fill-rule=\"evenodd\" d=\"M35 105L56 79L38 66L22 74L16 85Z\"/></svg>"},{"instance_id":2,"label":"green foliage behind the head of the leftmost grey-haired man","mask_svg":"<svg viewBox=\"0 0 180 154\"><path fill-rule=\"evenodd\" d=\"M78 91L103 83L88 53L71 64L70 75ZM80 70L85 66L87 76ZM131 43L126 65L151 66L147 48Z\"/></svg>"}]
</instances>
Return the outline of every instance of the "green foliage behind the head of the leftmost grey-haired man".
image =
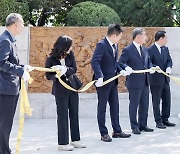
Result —
<instances>
[{"instance_id":1,"label":"green foliage behind the head of the leftmost grey-haired man","mask_svg":"<svg viewBox=\"0 0 180 154\"><path fill-rule=\"evenodd\" d=\"M0 0L0 25L5 25L6 17L12 12L21 14L27 22L29 16L27 1Z\"/></svg>"}]
</instances>

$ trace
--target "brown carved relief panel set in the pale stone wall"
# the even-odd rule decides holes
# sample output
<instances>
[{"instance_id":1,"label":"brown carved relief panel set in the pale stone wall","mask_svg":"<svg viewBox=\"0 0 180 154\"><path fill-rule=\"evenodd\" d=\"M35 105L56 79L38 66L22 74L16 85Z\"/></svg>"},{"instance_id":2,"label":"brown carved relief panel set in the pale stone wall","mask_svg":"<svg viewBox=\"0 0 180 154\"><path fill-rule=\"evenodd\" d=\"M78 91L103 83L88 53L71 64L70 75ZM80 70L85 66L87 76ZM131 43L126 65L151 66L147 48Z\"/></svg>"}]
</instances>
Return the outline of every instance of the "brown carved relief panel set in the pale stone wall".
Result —
<instances>
[{"instance_id":1,"label":"brown carved relief panel set in the pale stone wall","mask_svg":"<svg viewBox=\"0 0 180 154\"><path fill-rule=\"evenodd\" d=\"M119 43L119 56L122 49L132 42L133 27L124 28ZM163 28L145 28L148 37L146 46L154 42L154 34ZM30 29L30 65L44 67L47 56L56 39L68 35L73 39L73 51L77 61L77 75L84 85L92 80L91 58L96 43L106 36L107 27L32 27ZM33 71L34 82L29 85L29 92L51 92L52 81L48 81L44 72ZM126 92L125 77L119 78L119 92ZM87 92L95 92L91 87Z\"/></svg>"}]
</instances>

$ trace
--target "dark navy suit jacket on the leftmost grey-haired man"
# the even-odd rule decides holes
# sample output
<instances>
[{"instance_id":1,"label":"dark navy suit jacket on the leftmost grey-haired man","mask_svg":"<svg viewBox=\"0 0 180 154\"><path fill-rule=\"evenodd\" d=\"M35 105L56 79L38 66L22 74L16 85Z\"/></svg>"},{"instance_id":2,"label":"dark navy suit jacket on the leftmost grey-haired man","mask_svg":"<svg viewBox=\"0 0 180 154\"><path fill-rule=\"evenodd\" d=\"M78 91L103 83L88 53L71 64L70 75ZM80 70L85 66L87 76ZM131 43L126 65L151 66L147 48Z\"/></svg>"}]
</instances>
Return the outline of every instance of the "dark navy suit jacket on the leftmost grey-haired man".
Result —
<instances>
[{"instance_id":1,"label":"dark navy suit jacket on the leftmost grey-haired man","mask_svg":"<svg viewBox=\"0 0 180 154\"><path fill-rule=\"evenodd\" d=\"M7 30L0 35L0 94L17 95L23 67L19 64L17 47Z\"/></svg>"}]
</instances>

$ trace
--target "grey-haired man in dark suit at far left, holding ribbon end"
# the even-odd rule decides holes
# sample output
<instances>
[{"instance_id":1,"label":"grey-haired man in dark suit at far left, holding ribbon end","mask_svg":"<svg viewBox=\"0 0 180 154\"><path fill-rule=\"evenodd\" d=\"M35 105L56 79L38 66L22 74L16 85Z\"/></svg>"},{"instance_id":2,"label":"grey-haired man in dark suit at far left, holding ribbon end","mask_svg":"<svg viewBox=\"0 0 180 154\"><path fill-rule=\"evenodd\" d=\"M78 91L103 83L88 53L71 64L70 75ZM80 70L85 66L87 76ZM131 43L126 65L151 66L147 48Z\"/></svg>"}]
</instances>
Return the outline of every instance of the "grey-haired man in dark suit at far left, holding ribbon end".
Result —
<instances>
[{"instance_id":1,"label":"grey-haired man in dark suit at far left, holding ribbon end","mask_svg":"<svg viewBox=\"0 0 180 154\"><path fill-rule=\"evenodd\" d=\"M10 154L9 136L20 90L20 78L29 79L33 68L19 64L15 36L24 28L20 14L6 18L6 28L0 35L0 154Z\"/></svg>"}]
</instances>

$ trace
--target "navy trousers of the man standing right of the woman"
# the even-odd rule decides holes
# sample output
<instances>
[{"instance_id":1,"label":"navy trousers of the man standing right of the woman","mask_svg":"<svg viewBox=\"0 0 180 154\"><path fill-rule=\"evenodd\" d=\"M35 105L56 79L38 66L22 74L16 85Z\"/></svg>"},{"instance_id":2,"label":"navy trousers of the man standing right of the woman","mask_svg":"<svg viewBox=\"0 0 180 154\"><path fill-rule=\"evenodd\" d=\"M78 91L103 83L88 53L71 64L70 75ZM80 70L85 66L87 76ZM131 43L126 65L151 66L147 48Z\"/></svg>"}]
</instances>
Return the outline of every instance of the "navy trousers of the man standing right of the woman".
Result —
<instances>
[{"instance_id":1,"label":"navy trousers of the man standing right of the woman","mask_svg":"<svg viewBox=\"0 0 180 154\"><path fill-rule=\"evenodd\" d=\"M111 82L107 86L96 89L98 95L97 119L101 136L108 134L108 129L105 125L107 102L109 102L110 106L110 116L113 131L116 133L122 132L119 124L119 100L117 85L115 82Z\"/></svg>"}]
</instances>

